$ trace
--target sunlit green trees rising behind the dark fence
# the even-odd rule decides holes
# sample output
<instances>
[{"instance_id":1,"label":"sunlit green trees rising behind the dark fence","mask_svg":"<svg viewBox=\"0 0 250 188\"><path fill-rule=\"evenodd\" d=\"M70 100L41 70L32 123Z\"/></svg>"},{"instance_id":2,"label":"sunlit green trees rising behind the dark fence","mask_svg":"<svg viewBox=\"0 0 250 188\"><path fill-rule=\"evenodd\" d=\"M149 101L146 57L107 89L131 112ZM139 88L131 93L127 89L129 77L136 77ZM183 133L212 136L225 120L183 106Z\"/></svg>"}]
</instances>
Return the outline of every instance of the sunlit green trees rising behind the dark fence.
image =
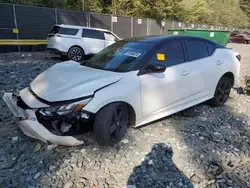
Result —
<instances>
[{"instance_id":1,"label":"sunlit green trees rising behind the dark fence","mask_svg":"<svg viewBox=\"0 0 250 188\"><path fill-rule=\"evenodd\" d=\"M1 2L78 11L84 7L84 11L122 16L250 27L250 0L0 0Z\"/></svg>"}]
</instances>

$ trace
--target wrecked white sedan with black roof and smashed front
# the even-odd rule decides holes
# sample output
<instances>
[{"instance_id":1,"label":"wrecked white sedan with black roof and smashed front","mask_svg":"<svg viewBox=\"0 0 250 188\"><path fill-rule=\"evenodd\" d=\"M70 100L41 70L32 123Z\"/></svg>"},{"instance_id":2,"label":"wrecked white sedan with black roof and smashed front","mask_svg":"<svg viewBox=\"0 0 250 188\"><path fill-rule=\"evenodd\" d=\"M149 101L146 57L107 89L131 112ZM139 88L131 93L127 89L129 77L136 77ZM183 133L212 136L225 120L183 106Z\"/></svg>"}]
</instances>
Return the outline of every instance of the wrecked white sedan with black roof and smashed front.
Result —
<instances>
[{"instance_id":1,"label":"wrecked white sedan with black roof and smashed front","mask_svg":"<svg viewBox=\"0 0 250 188\"><path fill-rule=\"evenodd\" d=\"M80 145L89 124L100 145L199 103L222 106L237 82L240 54L210 40L157 36L121 40L90 60L53 65L4 101L23 132Z\"/></svg>"}]
</instances>

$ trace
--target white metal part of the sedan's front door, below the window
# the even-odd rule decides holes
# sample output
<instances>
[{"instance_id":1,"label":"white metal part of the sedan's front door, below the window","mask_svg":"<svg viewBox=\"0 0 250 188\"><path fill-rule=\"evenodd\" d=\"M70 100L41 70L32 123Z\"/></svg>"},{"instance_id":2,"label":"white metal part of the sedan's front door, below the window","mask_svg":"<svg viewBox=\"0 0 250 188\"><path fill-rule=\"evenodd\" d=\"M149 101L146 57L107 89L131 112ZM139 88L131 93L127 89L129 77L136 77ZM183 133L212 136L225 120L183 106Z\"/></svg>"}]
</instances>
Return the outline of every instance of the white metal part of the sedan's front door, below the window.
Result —
<instances>
[{"instance_id":1,"label":"white metal part of the sedan's front door, below the window","mask_svg":"<svg viewBox=\"0 0 250 188\"><path fill-rule=\"evenodd\" d=\"M185 72L186 71L186 72ZM139 76L143 115L150 116L189 100L190 64L168 67L164 73Z\"/></svg>"}]
</instances>

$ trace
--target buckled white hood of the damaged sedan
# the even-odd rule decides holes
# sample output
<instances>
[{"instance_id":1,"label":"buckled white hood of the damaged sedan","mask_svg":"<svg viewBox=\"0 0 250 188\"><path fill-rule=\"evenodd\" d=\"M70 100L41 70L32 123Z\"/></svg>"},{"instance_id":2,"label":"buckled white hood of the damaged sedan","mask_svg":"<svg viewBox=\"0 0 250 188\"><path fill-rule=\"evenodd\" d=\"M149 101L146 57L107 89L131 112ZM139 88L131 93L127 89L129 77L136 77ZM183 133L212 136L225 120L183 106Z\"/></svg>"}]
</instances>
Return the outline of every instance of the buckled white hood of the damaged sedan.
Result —
<instances>
[{"instance_id":1,"label":"buckled white hood of the damaged sedan","mask_svg":"<svg viewBox=\"0 0 250 188\"><path fill-rule=\"evenodd\" d=\"M66 101L93 95L96 90L120 80L122 75L66 61L38 75L30 89L48 102Z\"/></svg>"}]
</instances>

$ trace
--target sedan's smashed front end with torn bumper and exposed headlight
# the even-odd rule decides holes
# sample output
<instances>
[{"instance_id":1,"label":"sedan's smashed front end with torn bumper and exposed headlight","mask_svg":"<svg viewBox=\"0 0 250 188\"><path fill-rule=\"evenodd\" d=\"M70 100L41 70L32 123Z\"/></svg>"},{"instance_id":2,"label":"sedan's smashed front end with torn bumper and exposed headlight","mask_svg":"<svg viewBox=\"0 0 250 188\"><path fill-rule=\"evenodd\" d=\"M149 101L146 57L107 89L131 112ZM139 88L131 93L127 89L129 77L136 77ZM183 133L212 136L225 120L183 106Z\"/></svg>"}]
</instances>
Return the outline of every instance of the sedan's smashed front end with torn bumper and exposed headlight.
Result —
<instances>
[{"instance_id":1,"label":"sedan's smashed front end with torn bumper and exposed headlight","mask_svg":"<svg viewBox=\"0 0 250 188\"><path fill-rule=\"evenodd\" d=\"M83 110L91 97L49 103L25 88L18 94L4 93L3 100L24 134L46 143L81 145L83 141L76 136L91 128L93 114Z\"/></svg>"}]
</instances>

